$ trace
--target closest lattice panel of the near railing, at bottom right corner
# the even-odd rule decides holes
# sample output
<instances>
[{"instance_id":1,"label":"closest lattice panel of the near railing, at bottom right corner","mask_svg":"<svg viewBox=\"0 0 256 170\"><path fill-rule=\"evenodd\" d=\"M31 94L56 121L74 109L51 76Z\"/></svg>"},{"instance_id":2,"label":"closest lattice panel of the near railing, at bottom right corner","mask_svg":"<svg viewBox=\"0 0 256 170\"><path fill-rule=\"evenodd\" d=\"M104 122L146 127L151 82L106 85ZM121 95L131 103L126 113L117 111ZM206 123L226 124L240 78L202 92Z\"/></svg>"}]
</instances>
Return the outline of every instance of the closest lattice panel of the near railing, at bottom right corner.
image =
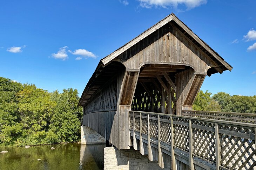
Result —
<instances>
[{"instance_id":1,"label":"closest lattice panel of the near railing, at bottom right corner","mask_svg":"<svg viewBox=\"0 0 256 170\"><path fill-rule=\"evenodd\" d=\"M220 130L233 131L234 136L219 134L221 146L221 165L224 168L235 170L256 169L255 130L252 128L219 125ZM219 132L220 132L219 130ZM238 133L237 133L238 132ZM239 133L248 134L251 139L235 137ZM245 135L244 135L245 136Z\"/></svg>"}]
</instances>

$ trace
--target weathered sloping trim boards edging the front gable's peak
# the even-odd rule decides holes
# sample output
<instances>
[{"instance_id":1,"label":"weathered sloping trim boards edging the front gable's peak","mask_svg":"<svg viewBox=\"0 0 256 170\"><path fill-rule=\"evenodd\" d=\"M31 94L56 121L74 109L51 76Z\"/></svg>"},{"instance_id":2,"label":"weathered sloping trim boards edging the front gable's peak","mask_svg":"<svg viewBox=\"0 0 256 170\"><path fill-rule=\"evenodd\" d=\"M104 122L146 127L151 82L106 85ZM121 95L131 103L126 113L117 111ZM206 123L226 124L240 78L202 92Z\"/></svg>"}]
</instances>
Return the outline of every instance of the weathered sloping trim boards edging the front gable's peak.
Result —
<instances>
[{"instance_id":1,"label":"weathered sloping trim boards edging the front gable's peak","mask_svg":"<svg viewBox=\"0 0 256 170\"><path fill-rule=\"evenodd\" d=\"M114 58L119 56L121 53L124 51L128 50L130 47L135 45L136 43L140 42L143 38L147 37L157 29L161 28L163 25L174 21L179 27L181 27L184 31L187 32L187 34L193 38L198 44L200 44L211 56L213 56L218 62L220 62L226 69L224 70L232 70L232 66L230 66L216 51L214 51L208 44L206 44L201 38L199 38L186 24L184 24L181 20L179 20L173 13L144 31L142 34L139 36L135 37L133 40L128 42L127 44L123 45L113 53L109 54L105 58L101 59L101 62L103 65L108 64L110 61L112 61Z\"/></svg>"}]
</instances>

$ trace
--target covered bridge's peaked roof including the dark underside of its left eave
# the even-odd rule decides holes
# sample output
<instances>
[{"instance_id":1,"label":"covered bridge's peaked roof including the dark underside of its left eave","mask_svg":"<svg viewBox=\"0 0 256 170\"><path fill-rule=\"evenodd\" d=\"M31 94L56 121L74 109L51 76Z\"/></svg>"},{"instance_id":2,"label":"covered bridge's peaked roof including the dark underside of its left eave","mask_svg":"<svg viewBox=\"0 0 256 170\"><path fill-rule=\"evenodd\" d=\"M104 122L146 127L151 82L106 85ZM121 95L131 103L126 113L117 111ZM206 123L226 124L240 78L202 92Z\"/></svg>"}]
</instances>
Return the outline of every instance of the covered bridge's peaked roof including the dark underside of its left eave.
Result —
<instances>
[{"instance_id":1,"label":"covered bridge's peaked roof including the dark underside of its left eave","mask_svg":"<svg viewBox=\"0 0 256 170\"><path fill-rule=\"evenodd\" d=\"M173 13L165 17L163 20L159 21L146 31L144 31L139 36L135 37L133 40L128 42L127 44L124 44L122 47L114 51L113 53L109 54L105 58L101 59L99 64L97 65L92 77L89 79L85 89L83 90L83 93L81 95L80 101L78 105L84 105L86 102L92 97L93 94L100 89L102 84L110 79L111 76L113 76L114 73L110 72L110 70L119 69L121 68L120 65L113 64L113 66L109 66L108 64L112 62L117 56L119 56L124 51L128 50L130 47L135 45L136 43L140 42L142 39L146 38L150 34L152 34L157 29L160 29L165 24L172 22L175 24L176 27L179 27L182 32L186 34L189 39L196 44L202 51L204 51L210 58L212 58L221 68L220 71L212 71L211 74L220 72L222 73L225 70L231 71L233 67L231 67L217 52L215 52L211 47L206 44L202 39L200 39L192 30L188 28L186 24L184 24L182 21L180 21ZM121 64L121 63L119 63ZM106 67L106 65L108 65ZM108 67L114 67L109 69ZM103 75L102 73L105 72ZM108 72L108 73L106 73Z\"/></svg>"}]
</instances>

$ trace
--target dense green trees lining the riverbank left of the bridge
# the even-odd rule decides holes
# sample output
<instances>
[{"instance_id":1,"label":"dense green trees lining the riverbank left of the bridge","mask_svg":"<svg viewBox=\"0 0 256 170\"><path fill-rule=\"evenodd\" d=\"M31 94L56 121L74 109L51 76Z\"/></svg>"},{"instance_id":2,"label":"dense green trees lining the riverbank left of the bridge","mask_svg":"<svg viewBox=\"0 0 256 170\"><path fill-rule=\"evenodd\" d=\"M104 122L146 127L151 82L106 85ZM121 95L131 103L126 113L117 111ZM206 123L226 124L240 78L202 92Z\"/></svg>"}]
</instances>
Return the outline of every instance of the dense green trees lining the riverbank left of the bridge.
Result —
<instances>
[{"instance_id":1,"label":"dense green trees lining the riverbank left of the bridge","mask_svg":"<svg viewBox=\"0 0 256 170\"><path fill-rule=\"evenodd\" d=\"M76 89L49 93L0 77L0 145L77 141L82 108Z\"/></svg>"}]
</instances>

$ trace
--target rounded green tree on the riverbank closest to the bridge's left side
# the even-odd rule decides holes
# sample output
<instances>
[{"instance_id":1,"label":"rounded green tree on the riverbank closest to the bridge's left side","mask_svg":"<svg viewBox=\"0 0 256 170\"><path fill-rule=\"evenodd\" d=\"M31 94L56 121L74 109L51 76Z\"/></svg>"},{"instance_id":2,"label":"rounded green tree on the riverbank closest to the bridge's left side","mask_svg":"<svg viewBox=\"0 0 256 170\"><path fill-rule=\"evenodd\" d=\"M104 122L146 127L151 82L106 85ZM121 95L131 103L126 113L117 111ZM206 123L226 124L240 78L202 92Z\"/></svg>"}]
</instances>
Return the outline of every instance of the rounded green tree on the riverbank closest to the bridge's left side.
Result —
<instances>
[{"instance_id":1,"label":"rounded green tree on the riverbank closest to the bridge's left side","mask_svg":"<svg viewBox=\"0 0 256 170\"><path fill-rule=\"evenodd\" d=\"M51 96L57 107L51 119L50 131L58 136L58 142L77 141L80 136L82 108L78 107L79 97L76 89L63 89Z\"/></svg>"}]
</instances>

